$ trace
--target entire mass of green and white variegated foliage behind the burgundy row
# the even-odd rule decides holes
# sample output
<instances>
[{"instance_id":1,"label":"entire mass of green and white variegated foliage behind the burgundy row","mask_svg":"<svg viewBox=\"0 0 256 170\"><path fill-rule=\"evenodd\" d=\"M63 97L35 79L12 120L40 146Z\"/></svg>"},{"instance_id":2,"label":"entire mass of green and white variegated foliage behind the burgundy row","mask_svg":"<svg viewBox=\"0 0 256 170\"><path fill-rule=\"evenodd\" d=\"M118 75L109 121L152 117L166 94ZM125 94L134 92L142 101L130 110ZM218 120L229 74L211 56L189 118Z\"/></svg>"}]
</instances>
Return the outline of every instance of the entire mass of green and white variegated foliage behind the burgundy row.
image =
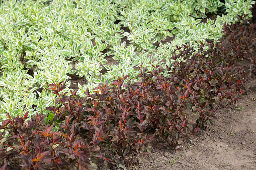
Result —
<instances>
[{"instance_id":1,"label":"entire mass of green and white variegated foliage behind the burgundy row","mask_svg":"<svg viewBox=\"0 0 256 170\"><path fill-rule=\"evenodd\" d=\"M78 95L100 83L130 74L138 64L169 65L176 45L198 48L222 37L222 26L249 14L254 1L228 0L4 0L0 1L0 119L36 112L47 114L55 95L51 83L76 73L87 80ZM207 14L226 14L202 23ZM199 19L200 18L200 19ZM125 28L125 29L123 29ZM129 29L129 31L127 31ZM126 30L126 31L124 31ZM172 42L163 44L166 37ZM123 40L122 40L123 39ZM126 41L126 42L125 42ZM207 46L205 46L207 49ZM106 60L112 58L114 64ZM75 64L74 64L75 62ZM33 69L33 74L27 74ZM107 72L102 74L103 69ZM70 82L66 83L67 86ZM68 92L68 89L67 89Z\"/></svg>"}]
</instances>

